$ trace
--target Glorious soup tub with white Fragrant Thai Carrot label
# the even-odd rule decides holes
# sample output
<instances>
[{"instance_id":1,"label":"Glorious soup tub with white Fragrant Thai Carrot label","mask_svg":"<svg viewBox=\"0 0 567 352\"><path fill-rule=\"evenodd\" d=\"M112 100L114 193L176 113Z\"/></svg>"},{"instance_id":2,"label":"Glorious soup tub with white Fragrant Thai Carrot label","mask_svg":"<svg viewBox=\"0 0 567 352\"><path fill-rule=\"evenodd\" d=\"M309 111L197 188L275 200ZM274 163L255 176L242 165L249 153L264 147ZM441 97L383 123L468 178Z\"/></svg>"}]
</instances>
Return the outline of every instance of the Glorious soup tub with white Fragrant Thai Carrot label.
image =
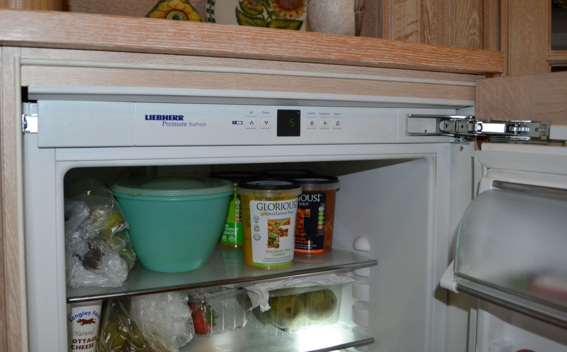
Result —
<instances>
[{"instance_id":1,"label":"Glorious soup tub with white Fragrant Thai Carrot label","mask_svg":"<svg viewBox=\"0 0 567 352\"><path fill-rule=\"evenodd\" d=\"M244 262L260 268L293 263L301 185L293 180L240 181Z\"/></svg>"}]
</instances>

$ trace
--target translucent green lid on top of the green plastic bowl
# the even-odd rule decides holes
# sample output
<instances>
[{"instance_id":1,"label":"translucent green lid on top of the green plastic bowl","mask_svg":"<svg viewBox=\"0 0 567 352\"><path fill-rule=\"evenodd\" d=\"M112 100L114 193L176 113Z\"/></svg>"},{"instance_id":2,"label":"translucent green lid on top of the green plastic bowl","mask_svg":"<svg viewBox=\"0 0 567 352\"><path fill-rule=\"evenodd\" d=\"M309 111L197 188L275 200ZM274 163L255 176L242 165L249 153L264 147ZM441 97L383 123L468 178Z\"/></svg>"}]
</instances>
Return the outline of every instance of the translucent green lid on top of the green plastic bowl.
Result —
<instances>
[{"instance_id":1,"label":"translucent green lid on top of the green plastic bowl","mask_svg":"<svg viewBox=\"0 0 567 352\"><path fill-rule=\"evenodd\" d=\"M212 177L152 177L119 181L112 190L130 196L204 196L234 191L234 185L231 181Z\"/></svg>"}]
</instances>

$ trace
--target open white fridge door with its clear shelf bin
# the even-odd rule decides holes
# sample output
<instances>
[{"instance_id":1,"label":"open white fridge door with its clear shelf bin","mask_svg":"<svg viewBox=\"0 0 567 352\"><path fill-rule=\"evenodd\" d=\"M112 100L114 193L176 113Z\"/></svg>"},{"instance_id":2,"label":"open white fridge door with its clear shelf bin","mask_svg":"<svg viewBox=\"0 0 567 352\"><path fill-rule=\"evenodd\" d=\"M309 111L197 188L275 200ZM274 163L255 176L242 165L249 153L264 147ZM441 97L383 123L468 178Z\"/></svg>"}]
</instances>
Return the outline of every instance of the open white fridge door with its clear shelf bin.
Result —
<instances>
[{"instance_id":1,"label":"open white fridge door with its clear shelf bin","mask_svg":"<svg viewBox=\"0 0 567 352\"><path fill-rule=\"evenodd\" d=\"M469 346L567 351L567 148L484 143L475 188L441 280L480 299Z\"/></svg>"}]
</instances>

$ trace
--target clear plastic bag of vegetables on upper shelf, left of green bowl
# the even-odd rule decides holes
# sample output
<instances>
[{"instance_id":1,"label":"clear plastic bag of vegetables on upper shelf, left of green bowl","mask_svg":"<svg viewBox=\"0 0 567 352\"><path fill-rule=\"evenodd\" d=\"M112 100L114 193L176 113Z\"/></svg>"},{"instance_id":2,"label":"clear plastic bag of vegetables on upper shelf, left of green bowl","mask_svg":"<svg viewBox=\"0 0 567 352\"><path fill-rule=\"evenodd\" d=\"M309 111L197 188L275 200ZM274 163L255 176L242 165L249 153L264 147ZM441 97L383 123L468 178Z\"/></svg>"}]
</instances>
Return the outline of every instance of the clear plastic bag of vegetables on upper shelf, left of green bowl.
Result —
<instances>
[{"instance_id":1,"label":"clear plastic bag of vegetables on upper shelf, left of green bowl","mask_svg":"<svg viewBox=\"0 0 567 352\"><path fill-rule=\"evenodd\" d=\"M110 189L88 180L65 201L67 285L121 286L136 262L128 221Z\"/></svg>"}]
</instances>

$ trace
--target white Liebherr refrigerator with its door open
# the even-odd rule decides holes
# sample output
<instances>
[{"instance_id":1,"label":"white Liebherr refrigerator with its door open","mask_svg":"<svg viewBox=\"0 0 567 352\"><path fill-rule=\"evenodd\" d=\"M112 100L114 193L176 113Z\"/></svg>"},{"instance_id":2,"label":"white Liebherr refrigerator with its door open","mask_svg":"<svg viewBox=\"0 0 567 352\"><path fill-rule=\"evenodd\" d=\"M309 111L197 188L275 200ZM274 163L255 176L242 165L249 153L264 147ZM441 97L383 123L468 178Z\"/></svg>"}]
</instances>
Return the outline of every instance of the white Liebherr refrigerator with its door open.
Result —
<instances>
[{"instance_id":1,"label":"white Liebherr refrigerator with its door open","mask_svg":"<svg viewBox=\"0 0 567 352\"><path fill-rule=\"evenodd\" d=\"M24 94L31 351L67 349L70 303L337 272L357 278L340 323L285 336L235 329L181 351L567 351L567 149L545 145L545 121L477 121L473 102L442 99L167 87ZM213 256L194 272L138 265L121 287L67 287L66 188L134 167L337 176L333 251L286 270L241 265L227 275Z\"/></svg>"}]
</instances>

